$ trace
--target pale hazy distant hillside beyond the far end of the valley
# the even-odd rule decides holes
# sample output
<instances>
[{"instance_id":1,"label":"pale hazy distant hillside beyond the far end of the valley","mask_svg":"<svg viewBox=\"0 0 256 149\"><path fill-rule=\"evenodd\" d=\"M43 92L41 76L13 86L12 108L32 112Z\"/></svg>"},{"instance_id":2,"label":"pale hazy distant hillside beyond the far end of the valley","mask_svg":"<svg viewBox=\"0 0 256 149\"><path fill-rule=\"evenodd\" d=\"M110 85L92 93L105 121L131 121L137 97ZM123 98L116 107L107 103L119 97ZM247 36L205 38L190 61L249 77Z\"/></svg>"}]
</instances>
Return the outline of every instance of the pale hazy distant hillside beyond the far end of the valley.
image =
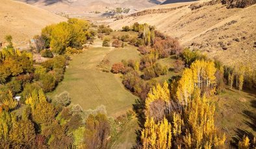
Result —
<instances>
[{"instance_id":1,"label":"pale hazy distant hillside beyond the far end of the valley","mask_svg":"<svg viewBox=\"0 0 256 149\"><path fill-rule=\"evenodd\" d=\"M164 0L21 0L56 14L71 17L100 17L115 8L130 8L130 12L159 5ZM97 12L97 13L94 13ZM109 15L109 14L108 14Z\"/></svg>"}]
</instances>

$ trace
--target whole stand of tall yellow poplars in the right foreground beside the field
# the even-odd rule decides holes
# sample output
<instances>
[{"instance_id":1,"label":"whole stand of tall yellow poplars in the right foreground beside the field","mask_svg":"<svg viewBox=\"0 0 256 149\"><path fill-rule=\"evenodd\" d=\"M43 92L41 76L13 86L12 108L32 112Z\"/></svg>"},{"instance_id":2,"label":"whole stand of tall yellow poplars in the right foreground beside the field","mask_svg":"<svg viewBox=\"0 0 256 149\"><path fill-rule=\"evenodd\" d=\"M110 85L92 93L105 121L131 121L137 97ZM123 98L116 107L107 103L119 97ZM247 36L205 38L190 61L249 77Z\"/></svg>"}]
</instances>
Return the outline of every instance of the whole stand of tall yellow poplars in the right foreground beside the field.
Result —
<instances>
[{"instance_id":1,"label":"whole stand of tall yellow poplars in the right foreground beside the field","mask_svg":"<svg viewBox=\"0 0 256 149\"><path fill-rule=\"evenodd\" d=\"M149 91L139 148L223 148L225 134L214 125L214 62L196 60L181 78Z\"/></svg>"}]
</instances>

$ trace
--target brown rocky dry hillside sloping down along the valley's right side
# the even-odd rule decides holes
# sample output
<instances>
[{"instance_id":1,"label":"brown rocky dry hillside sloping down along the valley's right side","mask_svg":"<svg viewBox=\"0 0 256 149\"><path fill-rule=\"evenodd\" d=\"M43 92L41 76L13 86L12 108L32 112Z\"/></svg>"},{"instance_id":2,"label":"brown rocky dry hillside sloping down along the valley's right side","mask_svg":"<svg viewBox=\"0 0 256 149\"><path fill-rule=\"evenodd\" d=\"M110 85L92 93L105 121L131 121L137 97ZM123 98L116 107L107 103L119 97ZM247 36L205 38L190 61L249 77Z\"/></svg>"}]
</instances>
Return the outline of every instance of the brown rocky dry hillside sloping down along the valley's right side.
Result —
<instances>
[{"instance_id":1,"label":"brown rocky dry hillside sloping down along the valley's right side","mask_svg":"<svg viewBox=\"0 0 256 149\"><path fill-rule=\"evenodd\" d=\"M256 68L256 5L230 8L220 3L189 6L204 1L159 5L110 23L122 29L134 22L155 25L158 30L179 38L185 47L199 49L225 64L250 64ZM166 11L162 11L165 9Z\"/></svg>"}]
</instances>

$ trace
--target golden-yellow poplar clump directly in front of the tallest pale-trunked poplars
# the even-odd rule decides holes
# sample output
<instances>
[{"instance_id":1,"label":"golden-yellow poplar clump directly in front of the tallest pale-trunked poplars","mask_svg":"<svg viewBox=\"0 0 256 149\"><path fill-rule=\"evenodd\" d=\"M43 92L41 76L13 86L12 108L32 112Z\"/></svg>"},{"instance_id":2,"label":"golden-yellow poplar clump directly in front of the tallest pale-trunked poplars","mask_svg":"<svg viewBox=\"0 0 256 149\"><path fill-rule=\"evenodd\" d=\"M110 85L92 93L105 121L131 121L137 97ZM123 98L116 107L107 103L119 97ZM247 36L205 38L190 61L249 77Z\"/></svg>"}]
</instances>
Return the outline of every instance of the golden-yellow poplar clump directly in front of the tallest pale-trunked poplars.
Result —
<instances>
[{"instance_id":1,"label":"golden-yellow poplar clump directly in front of the tallest pale-trunked poplars","mask_svg":"<svg viewBox=\"0 0 256 149\"><path fill-rule=\"evenodd\" d=\"M185 108L185 136L187 148L208 148L207 146L224 146L225 134L218 135L214 124L215 105L210 98L199 96L195 91L194 98Z\"/></svg>"}]
</instances>

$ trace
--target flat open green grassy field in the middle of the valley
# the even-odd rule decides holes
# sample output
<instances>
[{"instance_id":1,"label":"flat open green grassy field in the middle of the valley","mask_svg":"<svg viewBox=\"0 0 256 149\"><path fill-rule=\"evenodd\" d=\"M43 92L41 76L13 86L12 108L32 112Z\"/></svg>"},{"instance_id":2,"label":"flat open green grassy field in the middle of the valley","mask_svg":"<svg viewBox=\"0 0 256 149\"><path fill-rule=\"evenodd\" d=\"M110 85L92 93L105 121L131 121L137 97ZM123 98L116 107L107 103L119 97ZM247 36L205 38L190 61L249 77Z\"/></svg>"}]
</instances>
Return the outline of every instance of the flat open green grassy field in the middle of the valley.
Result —
<instances>
[{"instance_id":1,"label":"flat open green grassy field in the middle of the valley","mask_svg":"<svg viewBox=\"0 0 256 149\"><path fill-rule=\"evenodd\" d=\"M123 87L120 75L105 73L98 65L108 59L110 65L122 59L139 58L136 47L113 48L101 47L102 41L94 41L94 45L82 54L71 56L64 80L50 93L54 97L63 91L71 95L72 104L79 104L84 110L104 105L109 116L118 116L132 108L138 97ZM109 66L110 66L109 65Z\"/></svg>"}]
</instances>

